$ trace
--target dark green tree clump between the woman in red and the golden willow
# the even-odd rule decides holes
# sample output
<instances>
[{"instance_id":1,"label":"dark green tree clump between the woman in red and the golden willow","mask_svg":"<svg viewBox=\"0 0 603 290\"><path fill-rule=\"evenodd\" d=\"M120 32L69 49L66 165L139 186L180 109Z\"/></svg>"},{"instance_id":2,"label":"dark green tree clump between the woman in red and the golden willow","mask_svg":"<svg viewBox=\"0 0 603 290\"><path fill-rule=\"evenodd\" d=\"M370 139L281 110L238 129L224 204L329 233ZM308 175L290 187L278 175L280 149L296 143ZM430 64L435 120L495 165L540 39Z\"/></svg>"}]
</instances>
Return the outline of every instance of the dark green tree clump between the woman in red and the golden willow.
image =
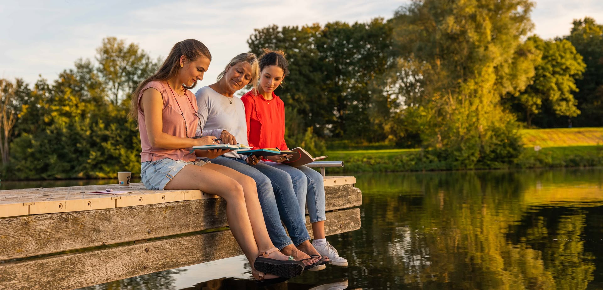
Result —
<instances>
[{"instance_id":1,"label":"dark green tree clump between the woman in red and the golden willow","mask_svg":"<svg viewBox=\"0 0 603 290\"><path fill-rule=\"evenodd\" d=\"M370 120L379 87L370 84L392 66L391 26L384 19L368 23L344 22L307 26L268 26L248 40L252 52L282 49L291 74L277 89L298 114L301 128L314 127L319 136L382 137Z\"/></svg>"}]
</instances>

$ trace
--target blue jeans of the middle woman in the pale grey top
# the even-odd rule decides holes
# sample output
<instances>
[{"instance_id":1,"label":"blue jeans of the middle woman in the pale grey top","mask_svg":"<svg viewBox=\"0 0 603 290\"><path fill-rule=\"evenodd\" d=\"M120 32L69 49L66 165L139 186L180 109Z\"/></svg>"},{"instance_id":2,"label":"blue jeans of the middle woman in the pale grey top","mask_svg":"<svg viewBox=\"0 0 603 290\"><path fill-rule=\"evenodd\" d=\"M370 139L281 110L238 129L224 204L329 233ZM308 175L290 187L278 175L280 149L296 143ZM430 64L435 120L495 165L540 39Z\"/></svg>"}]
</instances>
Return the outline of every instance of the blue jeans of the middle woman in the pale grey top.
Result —
<instances>
[{"instance_id":1,"label":"blue jeans of the middle woman in the pale grey top","mask_svg":"<svg viewBox=\"0 0 603 290\"><path fill-rule=\"evenodd\" d=\"M262 206L268 235L275 247L281 250L287 245L300 245L310 239L305 226L306 217L300 211L289 174L262 163L251 166L240 158L218 156L211 161L239 171L256 181L257 197ZM291 238L287 236L280 220L285 223Z\"/></svg>"}]
</instances>

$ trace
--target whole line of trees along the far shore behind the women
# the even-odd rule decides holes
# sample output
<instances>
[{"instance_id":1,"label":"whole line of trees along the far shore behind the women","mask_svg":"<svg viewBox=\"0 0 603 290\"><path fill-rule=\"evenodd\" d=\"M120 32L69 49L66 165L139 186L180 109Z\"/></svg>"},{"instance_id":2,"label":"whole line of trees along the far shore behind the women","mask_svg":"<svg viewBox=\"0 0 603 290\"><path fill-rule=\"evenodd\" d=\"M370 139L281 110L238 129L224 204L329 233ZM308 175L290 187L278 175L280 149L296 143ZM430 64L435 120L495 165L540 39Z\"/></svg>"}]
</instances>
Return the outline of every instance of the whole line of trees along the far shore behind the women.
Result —
<instances>
[{"instance_id":1,"label":"whole line of trees along the far shore behind the women","mask_svg":"<svg viewBox=\"0 0 603 290\"><path fill-rule=\"evenodd\" d=\"M521 126L601 126L603 25L531 35L533 2L417 0L391 19L255 29L250 51L286 52L276 93L288 143L323 140L420 147L450 169L513 162ZM130 94L160 59L107 37L94 60L54 81L0 80L2 178L110 177L139 172Z\"/></svg>"}]
</instances>

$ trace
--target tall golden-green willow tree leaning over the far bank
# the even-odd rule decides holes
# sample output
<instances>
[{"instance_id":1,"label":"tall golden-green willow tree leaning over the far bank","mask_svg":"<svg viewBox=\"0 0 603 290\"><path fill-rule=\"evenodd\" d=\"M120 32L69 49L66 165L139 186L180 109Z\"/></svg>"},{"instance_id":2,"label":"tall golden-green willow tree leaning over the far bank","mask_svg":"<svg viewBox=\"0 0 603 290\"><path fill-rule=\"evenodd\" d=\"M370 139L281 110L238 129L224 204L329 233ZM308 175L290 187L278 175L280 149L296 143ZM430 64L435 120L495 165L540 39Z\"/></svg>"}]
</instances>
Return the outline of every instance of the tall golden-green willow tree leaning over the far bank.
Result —
<instances>
[{"instance_id":1,"label":"tall golden-green willow tree leaning over the far bank","mask_svg":"<svg viewBox=\"0 0 603 290\"><path fill-rule=\"evenodd\" d=\"M522 90L533 76L533 69L513 69L533 58L520 49L533 26L533 5L417 0L396 11L400 57L418 64L413 75L419 88L405 96L405 117L423 146L452 167L510 163L519 156L514 118L500 97Z\"/></svg>"}]
</instances>

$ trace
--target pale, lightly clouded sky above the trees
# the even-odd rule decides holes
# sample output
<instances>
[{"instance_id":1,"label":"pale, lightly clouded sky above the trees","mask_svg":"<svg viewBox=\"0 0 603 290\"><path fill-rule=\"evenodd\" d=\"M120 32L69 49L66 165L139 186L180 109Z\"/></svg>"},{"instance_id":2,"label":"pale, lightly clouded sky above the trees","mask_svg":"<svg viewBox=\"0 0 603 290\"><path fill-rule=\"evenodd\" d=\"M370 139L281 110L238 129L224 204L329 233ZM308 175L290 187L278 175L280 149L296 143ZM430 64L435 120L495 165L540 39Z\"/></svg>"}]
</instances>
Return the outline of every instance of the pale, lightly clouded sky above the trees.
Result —
<instances>
[{"instance_id":1,"label":"pale, lightly clouded sky above the trees","mask_svg":"<svg viewBox=\"0 0 603 290\"><path fill-rule=\"evenodd\" d=\"M197 39L212 53L212 63L197 85L212 84L226 63L249 50L254 28L327 22L389 19L405 1L1 1L0 78L39 75L54 81L78 58L93 60L104 37L137 43L152 58L165 57L180 40ZM144 4L140 4L144 3ZM532 33L545 39L568 34L573 19L603 23L601 0L535 0ZM196 91L196 89L194 91Z\"/></svg>"}]
</instances>

